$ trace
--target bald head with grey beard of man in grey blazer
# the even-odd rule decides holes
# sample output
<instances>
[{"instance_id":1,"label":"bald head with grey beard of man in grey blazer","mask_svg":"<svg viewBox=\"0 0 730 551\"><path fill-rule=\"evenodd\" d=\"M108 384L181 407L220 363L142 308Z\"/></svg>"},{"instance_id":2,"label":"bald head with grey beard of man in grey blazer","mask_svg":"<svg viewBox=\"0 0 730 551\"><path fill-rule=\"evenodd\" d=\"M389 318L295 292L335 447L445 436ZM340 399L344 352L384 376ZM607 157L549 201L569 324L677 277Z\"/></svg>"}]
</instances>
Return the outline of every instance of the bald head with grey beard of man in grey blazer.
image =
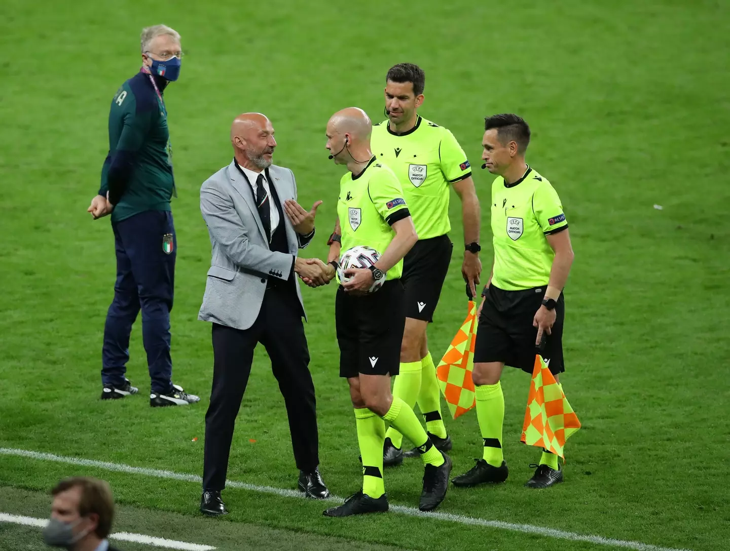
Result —
<instances>
[{"instance_id":1,"label":"bald head with grey beard of man in grey blazer","mask_svg":"<svg viewBox=\"0 0 730 551\"><path fill-rule=\"evenodd\" d=\"M231 144L239 165L260 172L272 164L274 127L264 114L239 114L231 125Z\"/></svg>"}]
</instances>

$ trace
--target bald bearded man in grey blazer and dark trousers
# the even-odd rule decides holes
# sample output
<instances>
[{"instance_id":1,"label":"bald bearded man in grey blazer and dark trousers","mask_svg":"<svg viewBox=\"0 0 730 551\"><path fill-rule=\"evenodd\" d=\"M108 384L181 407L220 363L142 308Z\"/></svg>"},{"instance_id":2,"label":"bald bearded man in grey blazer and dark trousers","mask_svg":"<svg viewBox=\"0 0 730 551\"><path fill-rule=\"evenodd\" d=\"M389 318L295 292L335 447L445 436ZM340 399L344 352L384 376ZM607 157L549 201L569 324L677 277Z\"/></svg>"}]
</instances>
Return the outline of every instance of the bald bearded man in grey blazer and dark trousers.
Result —
<instances>
[{"instance_id":1,"label":"bald bearded man in grey blazer and dark trousers","mask_svg":"<svg viewBox=\"0 0 730 551\"><path fill-rule=\"evenodd\" d=\"M321 263L297 257L315 234L315 212L296 203L288 168L272 165L274 128L263 114L245 113L231 127L234 160L200 189L200 210L210 233L212 260L198 319L212 321L213 383L205 415L203 495L200 510L225 515L234 423L261 343L284 396L299 490L329 496L318 464L315 388L304 336L299 277L326 283ZM296 213L294 212L296 209Z\"/></svg>"}]
</instances>

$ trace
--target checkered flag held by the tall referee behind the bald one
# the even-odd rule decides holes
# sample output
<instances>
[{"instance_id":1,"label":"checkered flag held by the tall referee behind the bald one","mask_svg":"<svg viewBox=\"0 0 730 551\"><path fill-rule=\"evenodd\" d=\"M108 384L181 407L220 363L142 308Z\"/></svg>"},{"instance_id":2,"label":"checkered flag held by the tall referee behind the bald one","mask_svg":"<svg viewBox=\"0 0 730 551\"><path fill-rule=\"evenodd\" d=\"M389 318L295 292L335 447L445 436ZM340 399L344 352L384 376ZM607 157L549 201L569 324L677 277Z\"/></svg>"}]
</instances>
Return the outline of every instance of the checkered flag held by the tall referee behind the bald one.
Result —
<instances>
[{"instance_id":1,"label":"checkered flag held by the tall referee behind the bald one","mask_svg":"<svg viewBox=\"0 0 730 551\"><path fill-rule=\"evenodd\" d=\"M477 339L477 305L469 300L469 313L436 368L436 377L454 419L477 405L472 381L474 343Z\"/></svg>"}]
</instances>

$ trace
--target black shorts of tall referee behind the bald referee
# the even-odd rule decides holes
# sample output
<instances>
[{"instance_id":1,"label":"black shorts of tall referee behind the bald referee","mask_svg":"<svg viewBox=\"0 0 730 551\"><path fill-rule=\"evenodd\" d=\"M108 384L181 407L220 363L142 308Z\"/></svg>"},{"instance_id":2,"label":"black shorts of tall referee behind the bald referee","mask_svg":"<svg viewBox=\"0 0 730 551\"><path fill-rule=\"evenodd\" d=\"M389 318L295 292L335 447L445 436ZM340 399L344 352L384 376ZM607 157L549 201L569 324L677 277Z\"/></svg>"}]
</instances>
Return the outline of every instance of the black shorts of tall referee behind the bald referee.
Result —
<instances>
[{"instance_id":1,"label":"black shorts of tall referee behind the bald referee","mask_svg":"<svg viewBox=\"0 0 730 551\"><path fill-rule=\"evenodd\" d=\"M416 241L403 259L406 317L434 321L434 310L451 262L448 235Z\"/></svg>"}]
</instances>

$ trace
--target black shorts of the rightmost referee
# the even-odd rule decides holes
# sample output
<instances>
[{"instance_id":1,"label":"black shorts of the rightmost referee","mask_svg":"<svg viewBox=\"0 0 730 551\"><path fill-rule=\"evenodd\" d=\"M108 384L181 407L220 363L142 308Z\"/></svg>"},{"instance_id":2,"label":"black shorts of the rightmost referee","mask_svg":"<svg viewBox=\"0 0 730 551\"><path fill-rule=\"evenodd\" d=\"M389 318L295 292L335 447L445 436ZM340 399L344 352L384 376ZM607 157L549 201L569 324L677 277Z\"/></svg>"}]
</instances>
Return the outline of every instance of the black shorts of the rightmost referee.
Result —
<instances>
[{"instance_id":1,"label":"black shorts of the rightmost referee","mask_svg":"<svg viewBox=\"0 0 730 551\"><path fill-rule=\"evenodd\" d=\"M493 285L487 290L479 317L474 362L504 362L532 373L535 365L537 327L532 327L535 313L542 305L547 287L524 291L504 291ZM556 320L551 334L539 349L553 375L565 371L563 362L563 322L565 299L560 295Z\"/></svg>"}]
</instances>

